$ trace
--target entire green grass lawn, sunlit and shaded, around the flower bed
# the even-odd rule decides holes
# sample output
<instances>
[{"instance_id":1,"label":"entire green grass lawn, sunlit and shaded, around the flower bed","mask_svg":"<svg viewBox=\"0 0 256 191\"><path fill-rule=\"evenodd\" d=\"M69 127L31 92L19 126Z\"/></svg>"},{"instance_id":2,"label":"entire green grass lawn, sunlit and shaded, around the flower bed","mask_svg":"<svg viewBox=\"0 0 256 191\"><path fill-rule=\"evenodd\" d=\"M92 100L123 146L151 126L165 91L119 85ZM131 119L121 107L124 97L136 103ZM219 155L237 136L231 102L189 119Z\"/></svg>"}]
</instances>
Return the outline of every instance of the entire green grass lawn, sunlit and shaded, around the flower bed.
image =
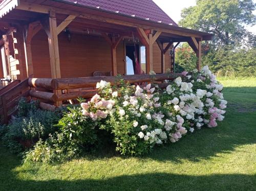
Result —
<instances>
[{"instance_id":1,"label":"entire green grass lawn, sunlit and shaded, around the flower bed","mask_svg":"<svg viewBox=\"0 0 256 191\"><path fill-rule=\"evenodd\" d=\"M256 190L256 78L220 81L228 108L217 128L141 158L21 164L0 147L0 190Z\"/></svg>"}]
</instances>

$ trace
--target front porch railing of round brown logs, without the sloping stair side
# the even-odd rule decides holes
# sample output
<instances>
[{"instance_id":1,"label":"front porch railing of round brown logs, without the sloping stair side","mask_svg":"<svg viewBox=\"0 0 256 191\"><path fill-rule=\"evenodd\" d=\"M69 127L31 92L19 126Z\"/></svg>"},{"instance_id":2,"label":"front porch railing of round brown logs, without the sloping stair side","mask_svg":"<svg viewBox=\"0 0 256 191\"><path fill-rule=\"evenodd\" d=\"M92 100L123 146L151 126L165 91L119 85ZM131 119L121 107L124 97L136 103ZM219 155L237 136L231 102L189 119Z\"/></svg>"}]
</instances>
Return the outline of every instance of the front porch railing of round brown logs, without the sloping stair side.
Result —
<instances>
[{"instance_id":1,"label":"front porch railing of round brown logs, without the sloping stair side","mask_svg":"<svg viewBox=\"0 0 256 191\"><path fill-rule=\"evenodd\" d=\"M181 76L181 74L157 74L154 76L154 81L164 81L164 80L174 80L175 78ZM152 76L150 75L132 75L132 76L121 76L121 79L124 81L129 81L133 83L141 82L150 82L152 81ZM41 90L30 90L30 96L33 98L45 100L47 102L58 102L76 99L78 97L82 98L92 98L97 90L94 90L93 87L96 86L96 83L100 80L110 82L112 85L118 84L117 78L112 76L104 77L83 77L83 78L60 78L60 79L51 79L51 78L30 78L28 80L29 86L31 88L41 88L46 91ZM76 88L92 88L91 90L82 90L76 92L69 92L66 94L55 94L49 92L49 90L70 90Z\"/></svg>"}]
</instances>

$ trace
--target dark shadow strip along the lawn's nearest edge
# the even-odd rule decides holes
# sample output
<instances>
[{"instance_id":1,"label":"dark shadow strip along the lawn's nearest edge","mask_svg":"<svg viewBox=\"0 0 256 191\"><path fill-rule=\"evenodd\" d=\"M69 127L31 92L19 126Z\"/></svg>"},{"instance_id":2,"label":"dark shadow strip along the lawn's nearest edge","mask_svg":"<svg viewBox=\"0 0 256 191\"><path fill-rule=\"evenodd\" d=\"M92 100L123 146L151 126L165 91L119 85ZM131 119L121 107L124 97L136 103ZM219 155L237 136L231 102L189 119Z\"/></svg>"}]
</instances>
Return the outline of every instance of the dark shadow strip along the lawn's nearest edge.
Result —
<instances>
[{"instance_id":1,"label":"dark shadow strip along the lawn's nearest edge","mask_svg":"<svg viewBox=\"0 0 256 191\"><path fill-rule=\"evenodd\" d=\"M2 182L1 190L255 190L255 177L151 173L83 180L19 180Z\"/></svg>"}]
</instances>

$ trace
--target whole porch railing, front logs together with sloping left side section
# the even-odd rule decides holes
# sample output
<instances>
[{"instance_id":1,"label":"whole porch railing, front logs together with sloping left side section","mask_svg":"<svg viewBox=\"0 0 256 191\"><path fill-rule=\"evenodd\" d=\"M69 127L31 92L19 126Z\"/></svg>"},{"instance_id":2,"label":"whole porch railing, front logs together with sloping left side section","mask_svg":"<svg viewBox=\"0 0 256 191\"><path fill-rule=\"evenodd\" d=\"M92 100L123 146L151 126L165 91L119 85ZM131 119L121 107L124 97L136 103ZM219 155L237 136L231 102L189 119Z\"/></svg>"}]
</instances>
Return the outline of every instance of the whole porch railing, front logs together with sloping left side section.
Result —
<instances>
[{"instance_id":1,"label":"whole porch railing, front logs together with sloping left side section","mask_svg":"<svg viewBox=\"0 0 256 191\"><path fill-rule=\"evenodd\" d=\"M154 81L174 80L179 76L181 74L157 74L154 76ZM120 78L126 82L129 81L131 84L153 80L150 75L132 75ZM11 115L17 111L18 100L22 97L39 99L41 108L53 111L55 106L58 106L58 102L73 100L78 97L92 98L97 93L95 86L100 80L110 82L112 85L118 84L118 79L111 76L60 79L30 78L18 84L15 82L0 94L0 123L8 123ZM158 85L161 88L166 87L164 83ZM91 89L88 90L88 88ZM71 91L72 89L73 91ZM55 90L64 90L67 93L55 94Z\"/></svg>"}]
</instances>

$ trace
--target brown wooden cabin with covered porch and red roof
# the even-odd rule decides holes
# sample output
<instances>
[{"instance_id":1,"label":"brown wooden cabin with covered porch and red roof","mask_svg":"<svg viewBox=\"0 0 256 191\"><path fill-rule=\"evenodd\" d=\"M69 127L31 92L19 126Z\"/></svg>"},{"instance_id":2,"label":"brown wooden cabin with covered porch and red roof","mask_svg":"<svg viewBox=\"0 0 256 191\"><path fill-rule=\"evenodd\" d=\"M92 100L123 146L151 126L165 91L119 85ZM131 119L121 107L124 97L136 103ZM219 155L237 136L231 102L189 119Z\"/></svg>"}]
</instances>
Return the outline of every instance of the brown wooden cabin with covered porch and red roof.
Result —
<instances>
[{"instance_id":1,"label":"brown wooden cabin with covered porch and red roof","mask_svg":"<svg viewBox=\"0 0 256 191\"><path fill-rule=\"evenodd\" d=\"M162 80L167 69L174 72L180 42L195 51L200 69L201 42L212 38L179 27L152 0L2 0L0 33L0 79L2 86L10 84L2 93L10 95L19 85L31 97L57 106L71 99L63 94L84 96L81 88L118 74L146 81L154 70ZM24 85L11 85L13 81ZM80 94L72 88L80 88Z\"/></svg>"}]
</instances>

